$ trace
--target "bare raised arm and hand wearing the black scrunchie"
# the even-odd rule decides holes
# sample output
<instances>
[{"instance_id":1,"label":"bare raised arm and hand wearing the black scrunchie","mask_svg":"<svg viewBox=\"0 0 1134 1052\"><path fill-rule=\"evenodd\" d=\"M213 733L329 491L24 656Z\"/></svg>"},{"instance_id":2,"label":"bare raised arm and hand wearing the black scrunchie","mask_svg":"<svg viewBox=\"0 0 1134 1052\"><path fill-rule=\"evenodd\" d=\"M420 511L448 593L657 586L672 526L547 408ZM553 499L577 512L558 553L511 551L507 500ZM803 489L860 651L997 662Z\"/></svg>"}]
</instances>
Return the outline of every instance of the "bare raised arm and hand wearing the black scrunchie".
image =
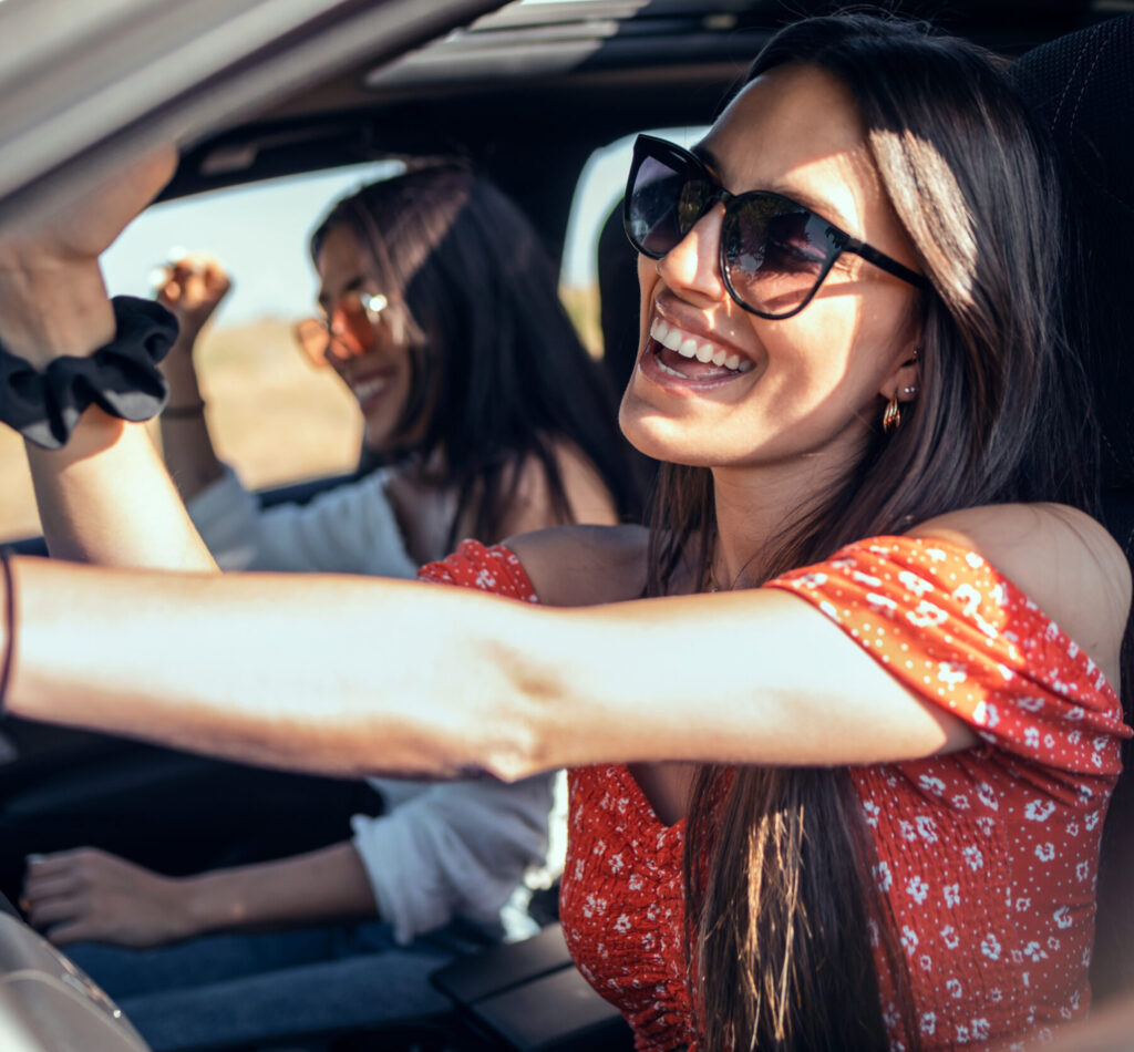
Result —
<instances>
[{"instance_id":1,"label":"bare raised arm and hand wearing the black scrunchie","mask_svg":"<svg viewBox=\"0 0 1134 1052\"><path fill-rule=\"evenodd\" d=\"M154 154L73 213L34 235L0 240L0 340L11 354L44 370L56 357L87 356L113 338L99 254L168 181L176 160L172 151ZM53 555L214 568L142 425L91 407L64 449L28 444L28 463Z\"/></svg>"}]
</instances>

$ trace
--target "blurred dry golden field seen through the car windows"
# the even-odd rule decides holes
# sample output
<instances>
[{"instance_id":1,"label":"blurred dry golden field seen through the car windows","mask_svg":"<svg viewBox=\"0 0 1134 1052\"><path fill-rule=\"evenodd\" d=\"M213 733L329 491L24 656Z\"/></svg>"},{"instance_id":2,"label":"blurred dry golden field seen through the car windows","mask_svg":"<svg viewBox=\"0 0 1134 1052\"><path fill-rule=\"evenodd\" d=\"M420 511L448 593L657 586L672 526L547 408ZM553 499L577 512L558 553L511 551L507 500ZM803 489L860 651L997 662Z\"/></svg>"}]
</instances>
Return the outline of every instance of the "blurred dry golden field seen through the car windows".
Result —
<instances>
[{"instance_id":1,"label":"blurred dry golden field seen through the car windows","mask_svg":"<svg viewBox=\"0 0 1134 1052\"><path fill-rule=\"evenodd\" d=\"M584 343L599 354L596 290L565 288L562 296ZM329 370L301 356L290 322L206 329L197 364L217 451L246 485L354 470L362 435L355 400ZM0 429L0 542L39 533L23 440Z\"/></svg>"}]
</instances>

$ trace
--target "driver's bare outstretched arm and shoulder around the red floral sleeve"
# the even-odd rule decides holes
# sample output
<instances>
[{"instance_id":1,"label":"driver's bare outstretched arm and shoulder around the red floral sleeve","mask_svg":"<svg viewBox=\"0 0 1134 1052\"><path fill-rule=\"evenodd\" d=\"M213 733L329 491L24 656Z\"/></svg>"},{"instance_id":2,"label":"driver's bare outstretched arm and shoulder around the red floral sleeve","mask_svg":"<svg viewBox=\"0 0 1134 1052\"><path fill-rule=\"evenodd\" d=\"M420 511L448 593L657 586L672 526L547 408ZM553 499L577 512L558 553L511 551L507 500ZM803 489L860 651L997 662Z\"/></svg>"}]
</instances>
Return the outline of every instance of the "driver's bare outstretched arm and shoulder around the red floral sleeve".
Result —
<instances>
[{"instance_id":1,"label":"driver's bare outstretched arm and shoulder around the red floral sleeve","mask_svg":"<svg viewBox=\"0 0 1134 1052\"><path fill-rule=\"evenodd\" d=\"M974 531L993 548L1004 514ZM1050 593L1048 614L1112 676L1128 577L1101 527L1078 520L1025 508L1001 554L1032 549L1016 578ZM1076 533L1090 528L1098 551ZM975 740L928 688L773 588L549 610L411 582L26 559L14 571L14 713L252 762L340 774L477 766L511 780L616 761L866 764ZM993 682L1004 661L1030 675L1006 643L978 659ZM941 693L956 671L938 660L925 675Z\"/></svg>"}]
</instances>

